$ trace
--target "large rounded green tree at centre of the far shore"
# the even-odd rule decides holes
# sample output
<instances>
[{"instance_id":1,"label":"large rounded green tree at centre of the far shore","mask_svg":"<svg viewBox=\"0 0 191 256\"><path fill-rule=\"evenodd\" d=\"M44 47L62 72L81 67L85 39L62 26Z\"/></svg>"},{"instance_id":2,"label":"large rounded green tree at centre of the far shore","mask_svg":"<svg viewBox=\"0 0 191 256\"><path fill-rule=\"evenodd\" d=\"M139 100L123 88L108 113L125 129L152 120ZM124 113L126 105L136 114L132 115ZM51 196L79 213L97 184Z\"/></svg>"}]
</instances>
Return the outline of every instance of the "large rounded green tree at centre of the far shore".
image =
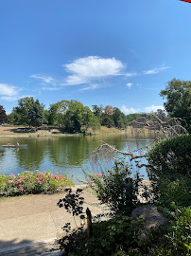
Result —
<instances>
[{"instance_id":1,"label":"large rounded green tree at centre of the far shore","mask_svg":"<svg viewBox=\"0 0 191 256\"><path fill-rule=\"evenodd\" d=\"M85 133L88 128L96 130L100 123L89 107L79 101L69 101L68 109L63 116L66 131Z\"/></svg>"}]
</instances>

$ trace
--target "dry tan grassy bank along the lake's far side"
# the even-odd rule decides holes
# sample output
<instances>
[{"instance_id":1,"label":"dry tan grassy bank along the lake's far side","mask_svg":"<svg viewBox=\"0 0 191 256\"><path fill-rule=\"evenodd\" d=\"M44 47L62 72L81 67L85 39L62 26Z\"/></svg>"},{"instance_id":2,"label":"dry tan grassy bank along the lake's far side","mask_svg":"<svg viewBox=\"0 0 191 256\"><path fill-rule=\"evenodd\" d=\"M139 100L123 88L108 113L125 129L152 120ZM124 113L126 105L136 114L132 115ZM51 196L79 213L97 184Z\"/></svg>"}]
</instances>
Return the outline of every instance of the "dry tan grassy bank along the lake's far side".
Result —
<instances>
[{"instance_id":1,"label":"dry tan grassy bank along the lake's far side","mask_svg":"<svg viewBox=\"0 0 191 256\"><path fill-rule=\"evenodd\" d=\"M111 134L127 134L130 137L142 135L143 137L153 137L155 132L147 129L138 129L128 127L127 129L108 128L101 126L99 130L94 132L89 129L87 135L111 135ZM18 125L0 125L0 137L50 137L50 136L79 136L80 134L66 134L60 128L44 126L38 129L29 128Z\"/></svg>"}]
</instances>

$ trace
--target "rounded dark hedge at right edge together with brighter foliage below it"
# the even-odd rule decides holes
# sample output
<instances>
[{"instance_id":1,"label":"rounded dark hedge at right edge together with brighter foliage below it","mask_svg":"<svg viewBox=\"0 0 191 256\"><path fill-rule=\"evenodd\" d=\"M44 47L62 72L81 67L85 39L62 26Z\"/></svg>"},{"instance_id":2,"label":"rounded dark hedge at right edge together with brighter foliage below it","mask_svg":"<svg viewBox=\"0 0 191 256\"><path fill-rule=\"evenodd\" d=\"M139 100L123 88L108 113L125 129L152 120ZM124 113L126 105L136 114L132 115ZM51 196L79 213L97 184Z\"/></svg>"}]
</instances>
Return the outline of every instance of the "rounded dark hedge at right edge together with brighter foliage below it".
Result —
<instances>
[{"instance_id":1,"label":"rounded dark hedge at right edge together with brighter foliage below it","mask_svg":"<svg viewBox=\"0 0 191 256\"><path fill-rule=\"evenodd\" d=\"M148 152L148 177L153 199L164 207L190 205L191 135L171 137Z\"/></svg>"}]
</instances>

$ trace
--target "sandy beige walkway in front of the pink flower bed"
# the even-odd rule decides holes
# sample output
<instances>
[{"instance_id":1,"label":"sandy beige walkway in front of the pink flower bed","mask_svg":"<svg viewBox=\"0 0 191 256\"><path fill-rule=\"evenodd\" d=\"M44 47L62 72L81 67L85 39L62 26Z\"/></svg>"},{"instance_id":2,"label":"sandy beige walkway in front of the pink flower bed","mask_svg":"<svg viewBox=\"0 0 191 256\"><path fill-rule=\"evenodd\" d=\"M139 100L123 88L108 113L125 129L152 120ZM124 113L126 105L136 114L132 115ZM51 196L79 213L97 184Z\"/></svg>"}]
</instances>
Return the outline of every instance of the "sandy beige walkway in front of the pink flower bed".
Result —
<instances>
[{"instance_id":1,"label":"sandy beige walkway in front of the pink flower bed","mask_svg":"<svg viewBox=\"0 0 191 256\"><path fill-rule=\"evenodd\" d=\"M75 228L73 216L57 206L64 195L33 194L0 201L0 255L61 255L55 243L63 234L61 228L67 222ZM83 197L84 210L88 207L93 215L103 212L91 192L84 191Z\"/></svg>"}]
</instances>

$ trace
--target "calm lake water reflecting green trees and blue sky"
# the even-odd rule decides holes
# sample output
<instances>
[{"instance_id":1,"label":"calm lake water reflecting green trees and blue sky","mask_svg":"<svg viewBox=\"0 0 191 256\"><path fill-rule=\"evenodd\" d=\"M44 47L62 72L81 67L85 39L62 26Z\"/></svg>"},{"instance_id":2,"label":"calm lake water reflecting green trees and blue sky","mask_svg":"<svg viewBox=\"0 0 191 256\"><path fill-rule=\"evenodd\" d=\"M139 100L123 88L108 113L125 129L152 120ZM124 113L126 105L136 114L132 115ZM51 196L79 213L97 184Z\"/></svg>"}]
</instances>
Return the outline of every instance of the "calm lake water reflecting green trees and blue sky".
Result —
<instances>
[{"instance_id":1,"label":"calm lake water reflecting green trees and blue sky","mask_svg":"<svg viewBox=\"0 0 191 256\"><path fill-rule=\"evenodd\" d=\"M3 144L27 144L26 148L0 148L0 174L19 174L23 171L61 172L78 180L84 180L82 169L90 167L90 158L102 141L115 146L118 150L129 152L150 143L149 139L128 138L126 134L68 136L68 137L0 137ZM122 156L122 155L119 155ZM141 169L148 178L145 168Z\"/></svg>"}]
</instances>

